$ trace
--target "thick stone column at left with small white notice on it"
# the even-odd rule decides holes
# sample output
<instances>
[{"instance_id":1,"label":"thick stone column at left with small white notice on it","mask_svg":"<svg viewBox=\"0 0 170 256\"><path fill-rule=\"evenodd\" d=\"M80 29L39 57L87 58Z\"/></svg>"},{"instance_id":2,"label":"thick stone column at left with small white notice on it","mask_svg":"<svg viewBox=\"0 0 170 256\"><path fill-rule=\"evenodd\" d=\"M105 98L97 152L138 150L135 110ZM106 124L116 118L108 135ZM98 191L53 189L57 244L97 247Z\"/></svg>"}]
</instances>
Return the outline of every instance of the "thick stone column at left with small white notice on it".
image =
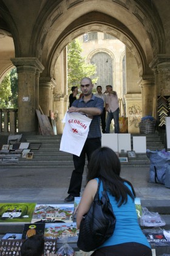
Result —
<instances>
[{"instance_id":1,"label":"thick stone column at left with small white notice on it","mask_svg":"<svg viewBox=\"0 0 170 256\"><path fill-rule=\"evenodd\" d=\"M18 131L36 131L37 71L44 67L35 57L11 59L18 72Z\"/></svg>"}]
</instances>

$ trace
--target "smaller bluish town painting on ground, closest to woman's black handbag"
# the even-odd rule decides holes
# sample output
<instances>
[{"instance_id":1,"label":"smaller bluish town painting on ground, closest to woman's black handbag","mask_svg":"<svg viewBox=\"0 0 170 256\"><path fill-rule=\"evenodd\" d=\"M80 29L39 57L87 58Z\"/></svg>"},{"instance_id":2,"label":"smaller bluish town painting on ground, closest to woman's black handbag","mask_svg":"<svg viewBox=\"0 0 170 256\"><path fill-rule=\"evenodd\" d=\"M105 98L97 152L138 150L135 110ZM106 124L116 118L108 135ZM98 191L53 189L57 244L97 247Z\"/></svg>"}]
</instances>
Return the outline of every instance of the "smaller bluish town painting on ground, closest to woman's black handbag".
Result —
<instances>
[{"instance_id":1,"label":"smaller bluish town painting on ground, closest to woman's black handbag","mask_svg":"<svg viewBox=\"0 0 170 256\"><path fill-rule=\"evenodd\" d=\"M77 243L78 232L76 222L67 223L46 223L44 237L49 239L57 239L57 243Z\"/></svg>"}]
</instances>

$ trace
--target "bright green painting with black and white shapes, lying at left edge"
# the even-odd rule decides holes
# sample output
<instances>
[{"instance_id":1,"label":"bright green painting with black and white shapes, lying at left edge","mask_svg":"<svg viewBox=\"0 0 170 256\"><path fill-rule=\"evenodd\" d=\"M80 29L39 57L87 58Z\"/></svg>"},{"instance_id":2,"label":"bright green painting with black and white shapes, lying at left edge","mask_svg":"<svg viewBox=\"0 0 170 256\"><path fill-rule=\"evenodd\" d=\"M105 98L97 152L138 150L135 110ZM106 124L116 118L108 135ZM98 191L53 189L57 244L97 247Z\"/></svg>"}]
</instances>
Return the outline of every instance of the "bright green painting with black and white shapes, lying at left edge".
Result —
<instances>
[{"instance_id":1,"label":"bright green painting with black and white shapes, lying at left edge","mask_svg":"<svg viewBox=\"0 0 170 256\"><path fill-rule=\"evenodd\" d=\"M0 203L0 222L31 222L36 203Z\"/></svg>"}]
</instances>

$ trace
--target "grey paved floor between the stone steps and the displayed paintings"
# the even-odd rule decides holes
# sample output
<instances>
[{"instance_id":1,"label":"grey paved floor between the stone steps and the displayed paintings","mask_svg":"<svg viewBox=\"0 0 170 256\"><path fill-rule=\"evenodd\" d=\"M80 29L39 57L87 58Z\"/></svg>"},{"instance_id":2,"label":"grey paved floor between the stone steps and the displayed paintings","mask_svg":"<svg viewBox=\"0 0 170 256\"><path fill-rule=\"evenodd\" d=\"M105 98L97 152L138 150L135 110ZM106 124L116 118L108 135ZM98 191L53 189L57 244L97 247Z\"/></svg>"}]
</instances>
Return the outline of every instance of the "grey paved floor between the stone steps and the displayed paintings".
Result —
<instances>
[{"instance_id":1,"label":"grey paved floor between the stone steps and the displayed paintings","mask_svg":"<svg viewBox=\"0 0 170 256\"><path fill-rule=\"evenodd\" d=\"M0 202L36 202L56 204L67 196L72 169L0 169ZM170 189L165 185L149 183L148 167L121 168L121 177L134 185L141 201L160 202L168 206ZM83 175L81 193L86 185L86 169ZM167 205L168 204L168 205Z\"/></svg>"}]
</instances>

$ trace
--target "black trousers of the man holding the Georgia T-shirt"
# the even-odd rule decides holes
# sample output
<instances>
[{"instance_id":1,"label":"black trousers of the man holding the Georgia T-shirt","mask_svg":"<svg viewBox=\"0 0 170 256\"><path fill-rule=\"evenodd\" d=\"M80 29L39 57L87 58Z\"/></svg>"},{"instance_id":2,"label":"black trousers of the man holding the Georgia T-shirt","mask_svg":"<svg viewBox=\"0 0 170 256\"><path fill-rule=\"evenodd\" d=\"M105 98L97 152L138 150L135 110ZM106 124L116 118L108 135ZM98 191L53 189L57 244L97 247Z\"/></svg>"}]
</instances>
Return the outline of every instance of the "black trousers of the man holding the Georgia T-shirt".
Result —
<instances>
[{"instance_id":1,"label":"black trousers of the man holding the Georgia T-shirt","mask_svg":"<svg viewBox=\"0 0 170 256\"><path fill-rule=\"evenodd\" d=\"M73 155L73 163L75 169L72 172L68 194L71 194L74 197L80 196L81 182L83 177L86 155L87 160L89 162L92 152L94 152L95 149L100 148L100 146L100 138L87 138L84 147L81 151L80 157L78 157L77 155Z\"/></svg>"}]
</instances>

